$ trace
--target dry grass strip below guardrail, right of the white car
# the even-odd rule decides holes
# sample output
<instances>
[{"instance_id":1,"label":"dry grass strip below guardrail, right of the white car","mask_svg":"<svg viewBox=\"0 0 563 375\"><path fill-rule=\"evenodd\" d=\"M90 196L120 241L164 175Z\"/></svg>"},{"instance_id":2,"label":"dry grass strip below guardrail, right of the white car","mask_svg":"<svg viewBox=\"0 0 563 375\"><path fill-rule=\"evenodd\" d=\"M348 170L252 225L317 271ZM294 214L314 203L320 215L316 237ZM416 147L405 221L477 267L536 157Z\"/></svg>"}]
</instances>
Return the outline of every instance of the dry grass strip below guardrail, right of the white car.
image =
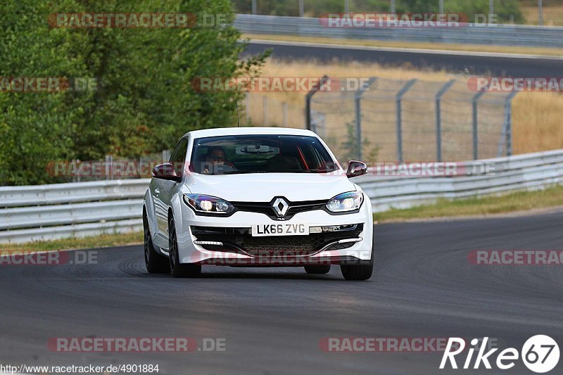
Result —
<instances>
[{"instance_id":1,"label":"dry grass strip below guardrail, right of the white car","mask_svg":"<svg viewBox=\"0 0 563 375\"><path fill-rule=\"evenodd\" d=\"M374 214L379 222L401 222L437 217L483 216L508 212L550 208L563 205L563 186L543 191L521 191L502 196L469 198L460 201L442 199L433 205L421 205L403 210L392 209Z\"/></svg>"}]
</instances>

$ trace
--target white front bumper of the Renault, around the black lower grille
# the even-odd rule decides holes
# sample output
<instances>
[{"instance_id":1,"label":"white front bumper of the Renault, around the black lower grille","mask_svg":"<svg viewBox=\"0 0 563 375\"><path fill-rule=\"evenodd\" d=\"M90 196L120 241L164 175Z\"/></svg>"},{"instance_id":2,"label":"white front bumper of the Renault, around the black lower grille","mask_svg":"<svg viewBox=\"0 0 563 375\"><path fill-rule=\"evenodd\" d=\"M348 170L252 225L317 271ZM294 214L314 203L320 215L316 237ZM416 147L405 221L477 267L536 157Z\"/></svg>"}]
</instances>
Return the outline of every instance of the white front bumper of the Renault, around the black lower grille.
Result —
<instances>
[{"instance_id":1,"label":"white front bumper of the Renault, around the black lower grille","mask_svg":"<svg viewBox=\"0 0 563 375\"><path fill-rule=\"evenodd\" d=\"M373 220L369 200L358 212L299 212L284 224L305 224L308 236L251 236L253 224L279 223L259 212L230 217L198 216L186 205L177 223L182 263L229 266L365 264L372 260ZM337 230L334 230L337 229Z\"/></svg>"}]
</instances>

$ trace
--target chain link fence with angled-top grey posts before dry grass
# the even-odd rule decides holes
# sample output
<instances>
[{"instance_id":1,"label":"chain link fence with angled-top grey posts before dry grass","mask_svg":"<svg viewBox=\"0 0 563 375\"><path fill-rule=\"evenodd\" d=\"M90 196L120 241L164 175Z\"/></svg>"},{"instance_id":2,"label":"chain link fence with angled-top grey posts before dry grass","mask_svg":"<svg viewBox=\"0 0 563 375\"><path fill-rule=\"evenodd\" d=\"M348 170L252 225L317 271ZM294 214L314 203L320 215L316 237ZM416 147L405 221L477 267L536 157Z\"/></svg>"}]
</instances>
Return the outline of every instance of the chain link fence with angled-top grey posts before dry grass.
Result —
<instances>
[{"instance_id":1,"label":"chain link fence with angled-top grey posts before dry grass","mask_svg":"<svg viewBox=\"0 0 563 375\"><path fill-rule=\"evenodd\" d=\"M370 78L357 91L314 91L306 127L339 160L460 161L512 154L514 92L467 82Z\"/></svg>"}]
</instances>

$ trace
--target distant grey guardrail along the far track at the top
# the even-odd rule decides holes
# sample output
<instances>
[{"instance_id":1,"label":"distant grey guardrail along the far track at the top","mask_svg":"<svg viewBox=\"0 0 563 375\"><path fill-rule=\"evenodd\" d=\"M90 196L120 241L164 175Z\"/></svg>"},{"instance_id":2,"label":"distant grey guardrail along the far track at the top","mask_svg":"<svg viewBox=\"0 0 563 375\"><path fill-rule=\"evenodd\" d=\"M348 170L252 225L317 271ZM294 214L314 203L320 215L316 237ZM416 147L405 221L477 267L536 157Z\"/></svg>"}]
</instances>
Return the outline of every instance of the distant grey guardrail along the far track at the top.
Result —
<instances>
[{"instance_id":1,"label":"distant grey guardrail along the far track at the top","mask_svg":"<svg viewBox=\"0 0 563 375\"><path fill-rule=\"evenodd\" d=\"M234 27L248 34L298 35L401 42L563 47L563 27L473 25L460 27L324 27L321 18L237 14Z\"/></svg>"}]
</instances>

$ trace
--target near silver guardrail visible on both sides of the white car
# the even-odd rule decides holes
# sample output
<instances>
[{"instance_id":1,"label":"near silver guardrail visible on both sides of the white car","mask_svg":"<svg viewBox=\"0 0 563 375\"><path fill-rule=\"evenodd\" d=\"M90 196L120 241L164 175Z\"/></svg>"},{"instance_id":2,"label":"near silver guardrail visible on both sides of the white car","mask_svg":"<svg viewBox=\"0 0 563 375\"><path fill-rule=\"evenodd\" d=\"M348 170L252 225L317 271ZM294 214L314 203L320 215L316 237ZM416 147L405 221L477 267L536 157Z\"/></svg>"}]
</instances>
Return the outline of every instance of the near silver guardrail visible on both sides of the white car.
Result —
<instances>
[{"instance_id":1,"label":"near silver guardrail visible on both sides of the white car","mask_svg":"<svg viewBox=\"0 0 563 375\"><path fill-rule=\"evenodd\" d=\"M356 180L374 212L506 191L563 184L563 150L479 160L492 174L379 177ZM474 162L462 163L472 167ZM148 179L0 187L0 243L140 231Z\"/></svg>"}]
</instances>

